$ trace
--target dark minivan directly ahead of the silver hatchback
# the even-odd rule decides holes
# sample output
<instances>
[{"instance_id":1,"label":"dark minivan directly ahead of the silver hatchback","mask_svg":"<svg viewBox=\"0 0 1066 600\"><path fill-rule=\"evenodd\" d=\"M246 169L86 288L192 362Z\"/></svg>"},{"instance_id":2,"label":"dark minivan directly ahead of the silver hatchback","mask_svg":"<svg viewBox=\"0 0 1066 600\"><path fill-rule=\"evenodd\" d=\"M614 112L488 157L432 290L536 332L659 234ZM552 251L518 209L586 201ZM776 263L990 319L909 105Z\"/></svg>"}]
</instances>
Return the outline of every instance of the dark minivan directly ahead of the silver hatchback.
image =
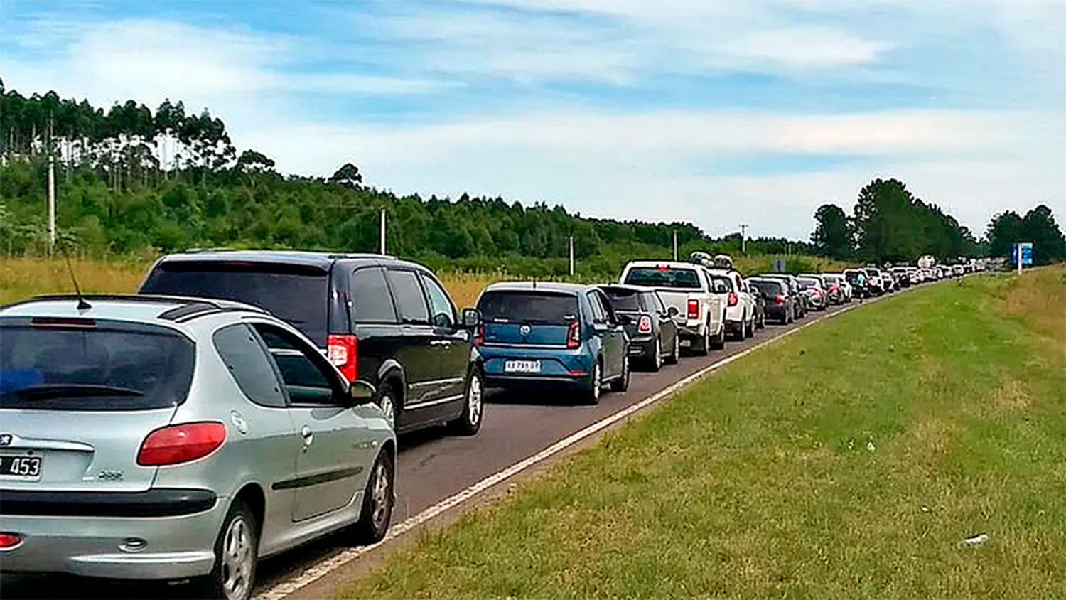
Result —
<instances>
[{"instance_id":1,"label":"dark minivan directly ahead of the silver hatchback","mask_svg":"<svg viewBox=\"0 0 1066 600\"><path fill-rule=\"evenodd\" d=\"M142 294L261 307L311 339L350 380L374 386L398 433L449 424L473 435L483 410L480 313L462 320L430 270L378 255L211 250L159 259Z\"/></svg>"}]
</instances>

